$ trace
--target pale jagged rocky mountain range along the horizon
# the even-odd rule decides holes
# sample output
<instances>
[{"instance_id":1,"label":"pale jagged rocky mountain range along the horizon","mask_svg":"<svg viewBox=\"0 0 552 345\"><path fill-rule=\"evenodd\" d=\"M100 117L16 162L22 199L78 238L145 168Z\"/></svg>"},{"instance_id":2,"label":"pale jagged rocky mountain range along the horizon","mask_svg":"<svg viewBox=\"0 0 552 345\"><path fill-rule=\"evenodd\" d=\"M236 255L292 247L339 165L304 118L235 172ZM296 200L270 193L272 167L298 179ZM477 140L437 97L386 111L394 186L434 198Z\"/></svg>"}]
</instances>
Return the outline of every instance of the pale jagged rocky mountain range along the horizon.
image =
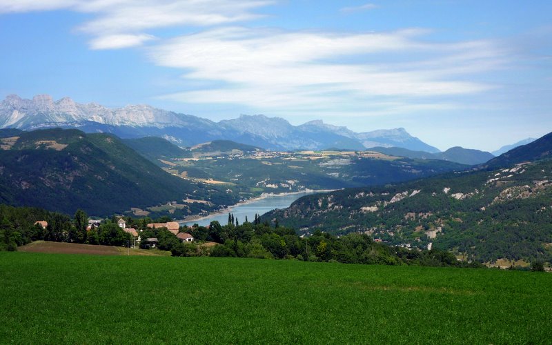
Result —
<instances>
[{"instance_id":1,"label":"pale jagged rocky mountain range along the horizon","mask_svg":"<svg viewBox=\"0 0 552 345\"><path fill-rule=\"evenodd\" d=\"M146 105L110 109L97 103L81 104L49 95L21 99L10 95L0 103L0 128L78 128L83 132L108 132L121 138L164 137L179 146L228 139L271 150L365 149L373 146L403 147L439 152L412 137L404 128L357 133L346 127L310 121L293 126L285 119L241 115L237 119L210 121Z\"/></svg>"}]
</instances>

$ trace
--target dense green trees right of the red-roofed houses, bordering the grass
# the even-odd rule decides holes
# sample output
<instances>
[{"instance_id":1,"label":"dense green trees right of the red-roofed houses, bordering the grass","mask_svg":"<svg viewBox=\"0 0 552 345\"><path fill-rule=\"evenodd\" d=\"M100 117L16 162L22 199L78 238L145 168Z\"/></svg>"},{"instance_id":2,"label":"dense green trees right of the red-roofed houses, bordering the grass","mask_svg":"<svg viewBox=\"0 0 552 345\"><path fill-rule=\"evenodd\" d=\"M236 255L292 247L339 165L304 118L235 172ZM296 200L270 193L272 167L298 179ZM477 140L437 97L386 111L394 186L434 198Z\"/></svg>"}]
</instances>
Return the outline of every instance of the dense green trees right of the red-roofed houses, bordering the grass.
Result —
<instances>
[{"instance_id":1,"label":"dense green trees right of the red-roofed houses, bordering the grass","mask_svg":"<svg viewBox=\"0 0 552 345\"><path fill-rule=\"evenodd\" d=\"M255 217L253 223L244 221L238 225L235 220L229 215L225 226L212 221L210 226L181 228L181 232L193 235L196 242L216 242L219 245L206 250L203 244L174 242L170 248L172 255L298 259L346 264L482 266L475 262L458 261L446 250L408 250L387 246L374 242L365 234L350 233L337 237L317 230L309 237L300 237L293 228L270 226L268 222L261 223L260 217Z\"/></svg>"}]
</instances>

